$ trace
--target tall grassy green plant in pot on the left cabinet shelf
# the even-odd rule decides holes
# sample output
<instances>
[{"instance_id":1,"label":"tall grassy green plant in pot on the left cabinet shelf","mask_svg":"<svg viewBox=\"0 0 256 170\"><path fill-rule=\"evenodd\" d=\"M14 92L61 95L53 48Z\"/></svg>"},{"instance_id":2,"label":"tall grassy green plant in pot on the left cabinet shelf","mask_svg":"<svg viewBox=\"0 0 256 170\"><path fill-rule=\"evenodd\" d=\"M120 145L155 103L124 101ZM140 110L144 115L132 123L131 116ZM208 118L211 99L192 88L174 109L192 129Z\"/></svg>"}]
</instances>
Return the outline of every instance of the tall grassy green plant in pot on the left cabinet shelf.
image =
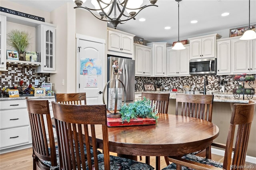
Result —
<instances>
[{"instance_id":1,"label":"tall grassy green plant in pot on the left cabinet shelf","mask_svg":"<svg viewBox=\"0 0 256 170\"><path fill-rule=\"evenodd\" d=\"M24 52L29 46L29 34L25 31L11 30L8 33L9 45L14 47L19 53L19 59L24 60Z\"/></svg>"}]
</instances>

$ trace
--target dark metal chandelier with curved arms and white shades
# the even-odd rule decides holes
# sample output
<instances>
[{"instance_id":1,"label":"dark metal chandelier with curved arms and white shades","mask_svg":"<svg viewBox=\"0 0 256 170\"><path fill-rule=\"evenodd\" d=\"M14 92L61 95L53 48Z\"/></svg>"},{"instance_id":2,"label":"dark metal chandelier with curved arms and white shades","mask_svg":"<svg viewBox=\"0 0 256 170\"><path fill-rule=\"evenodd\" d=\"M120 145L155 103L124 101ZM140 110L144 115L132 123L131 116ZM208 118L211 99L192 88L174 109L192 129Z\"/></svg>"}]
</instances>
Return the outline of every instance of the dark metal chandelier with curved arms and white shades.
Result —
<instances>
[{"instance_id":1,"label":"dark metal chandelier with curved arms and white shades","mask_svg":"<svg viewBox=\"0 0 256 170\"><path fill-rule=\"evenodd\" d=\"M118 24L124 24L130 19L135 20L134 17L144 8L148 6L157 6L155 5L157 0L150 0L150 4L144 6L141 6L143 0L91 0L91 3L95 7L95 9L91 9L82 6L86 0L74 0L74 2L77 5L74 8L88 10L99 20L110 22L115 29ZM100 17L96 16L92 11L97 11L100 14Z\"/></svg>"}]
</instances>

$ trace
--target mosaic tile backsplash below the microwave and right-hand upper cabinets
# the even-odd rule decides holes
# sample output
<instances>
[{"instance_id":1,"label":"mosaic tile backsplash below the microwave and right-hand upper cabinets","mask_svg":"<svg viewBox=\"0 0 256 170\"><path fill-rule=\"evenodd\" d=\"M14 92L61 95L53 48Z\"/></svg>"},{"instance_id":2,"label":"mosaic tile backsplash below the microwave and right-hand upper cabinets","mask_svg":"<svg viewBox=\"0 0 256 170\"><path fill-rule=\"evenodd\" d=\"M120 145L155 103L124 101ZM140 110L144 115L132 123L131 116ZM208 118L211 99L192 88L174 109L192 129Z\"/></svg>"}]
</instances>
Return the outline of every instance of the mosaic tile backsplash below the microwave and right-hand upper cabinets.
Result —
<instances>
[{"instance_id":1,"label":"mosaic tile backsplash below the microwave and right-hand upper cabinets","mask_svg":"<svg viewBox=\"0 0 256 170\"><path fill-rule=\"evenodd\" d=\"M207 75L208 85L206 87L207 91L220 91L219 82L224 80L227 81L225 90L226 92L232 92L232 89L236 86L233 80L233 75ZM187 76L187 77L135 77L135 82L138 85L138 89L144 90L144 83L153 83L154 85L160 85L168 87L169 89L181 89L180 85L195 85L195 90L204 89L204 75ZM254 83L255 84L255 83ZM245 83L246 86L246 83ZM255 85L254 85L255 86ZM254 87L255 88L255 87Z\"/></svg>"}]
</instances>

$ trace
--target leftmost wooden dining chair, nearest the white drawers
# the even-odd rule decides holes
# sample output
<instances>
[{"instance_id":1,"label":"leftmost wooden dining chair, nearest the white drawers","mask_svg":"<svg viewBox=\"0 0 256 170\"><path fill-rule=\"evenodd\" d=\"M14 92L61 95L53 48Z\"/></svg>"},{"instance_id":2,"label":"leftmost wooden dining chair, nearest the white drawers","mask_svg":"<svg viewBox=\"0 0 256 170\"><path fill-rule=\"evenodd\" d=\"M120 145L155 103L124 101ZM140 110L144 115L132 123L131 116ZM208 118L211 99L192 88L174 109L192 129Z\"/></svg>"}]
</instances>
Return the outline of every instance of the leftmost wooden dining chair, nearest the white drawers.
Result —
<instances>
[{"instance_id":1,"label":"leftmost wooden dining chair, nearest the white drawers","mask_svg":"<svg viewBox=\"0 0 256 170\"><path fill-rule=\"evenodd\" d=\"M56 158L58 148L54 142L49 102L48 100L31 100L26 97L26 105L32 134L33 170L58 169Z\"/></svg>"}]
</instances>

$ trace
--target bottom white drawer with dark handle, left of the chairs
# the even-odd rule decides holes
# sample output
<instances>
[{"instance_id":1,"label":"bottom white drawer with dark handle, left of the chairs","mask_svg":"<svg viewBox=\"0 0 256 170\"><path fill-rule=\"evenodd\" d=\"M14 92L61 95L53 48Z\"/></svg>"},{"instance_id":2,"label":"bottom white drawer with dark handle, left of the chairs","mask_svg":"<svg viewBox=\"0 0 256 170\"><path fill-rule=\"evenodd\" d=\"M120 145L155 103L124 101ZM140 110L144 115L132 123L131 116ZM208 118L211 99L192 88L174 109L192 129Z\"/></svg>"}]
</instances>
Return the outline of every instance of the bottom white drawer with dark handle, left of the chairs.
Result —
<instances>
[{"instance_id":1,"label":"bottom white drawer with dark handle, left of the chairs","mask_svg":"<svg viewBox=\"0 0 256 170\"><path fill-rule=\"evenodd\" d=\"M30 127L18 127L0 130L0 148L29 143Z\"/></svg>"}]
</instances>

